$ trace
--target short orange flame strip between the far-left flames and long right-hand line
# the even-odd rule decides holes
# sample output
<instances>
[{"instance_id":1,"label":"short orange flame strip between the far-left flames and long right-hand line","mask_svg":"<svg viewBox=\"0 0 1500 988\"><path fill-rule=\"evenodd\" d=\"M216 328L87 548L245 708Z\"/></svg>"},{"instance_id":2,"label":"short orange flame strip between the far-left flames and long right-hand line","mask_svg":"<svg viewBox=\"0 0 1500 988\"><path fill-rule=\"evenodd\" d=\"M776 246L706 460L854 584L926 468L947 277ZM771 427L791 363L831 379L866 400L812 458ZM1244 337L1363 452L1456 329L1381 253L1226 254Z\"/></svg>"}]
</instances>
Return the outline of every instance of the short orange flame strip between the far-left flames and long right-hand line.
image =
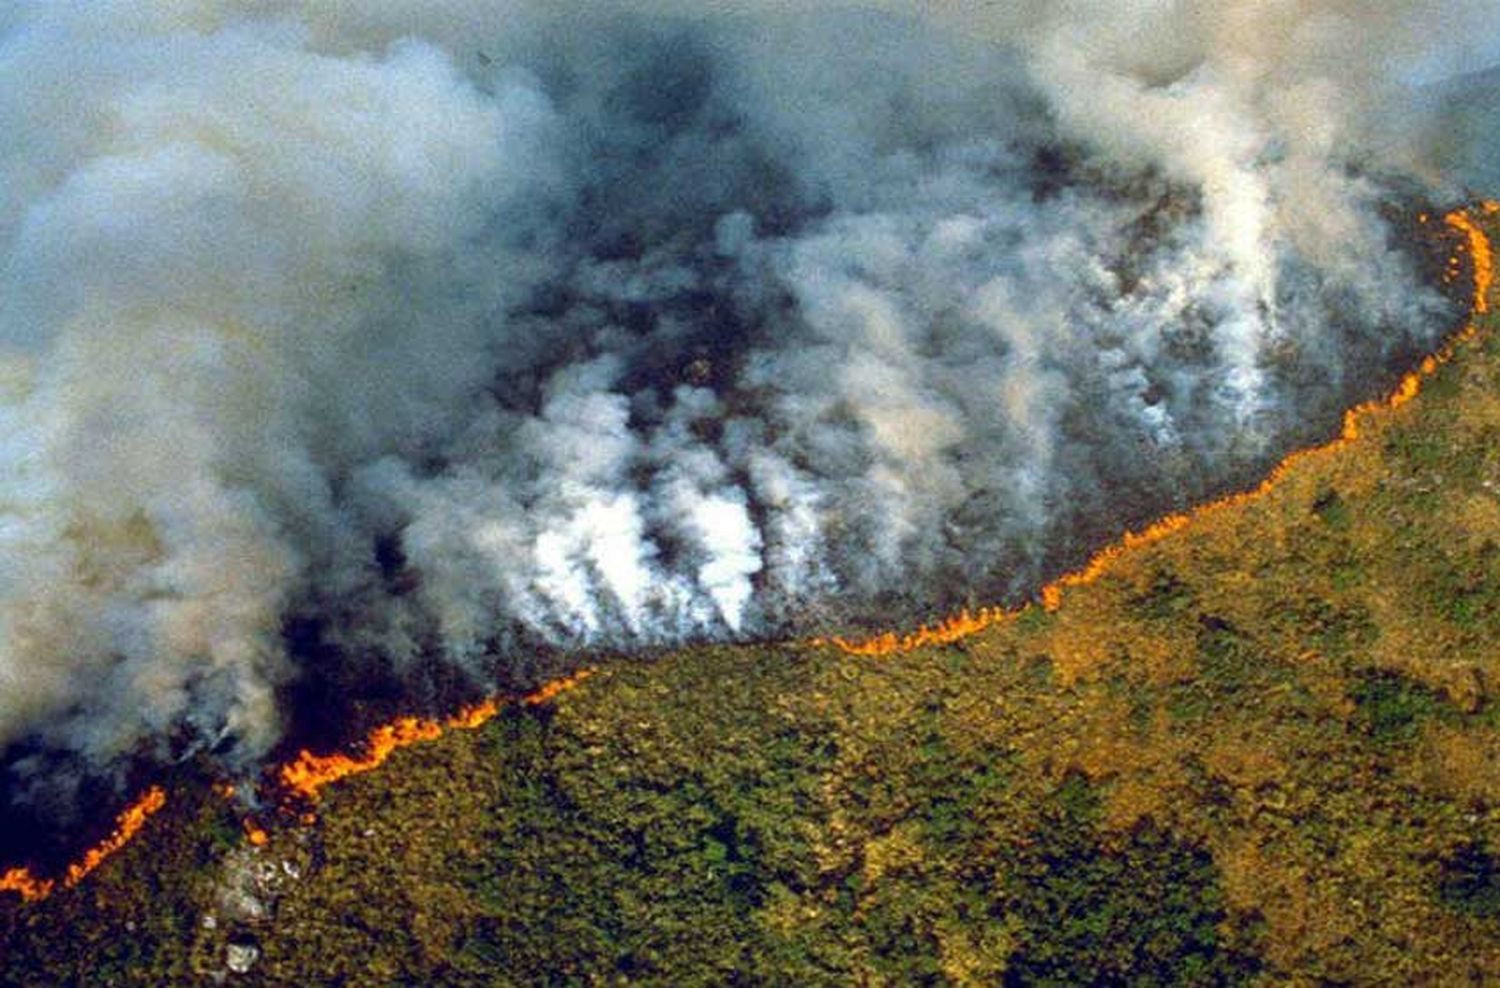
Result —
<instances>
[{"instance_id":1,"label":"short orange flame strip between the far-left flames and long right-hand line","mask_svg":"<svg viewBox=\"0 0 1500 988\"><path fill-rule=\"evenodd\" d=\"M526 706L537 706L566 693L584 682L594 673L592 669L580 669L566 679L554 679L543 684L532 693L519 697ZM276 772L284 792L300 796L309 802L316 802L324 786L350 775L372 772L386 763L392 753L408 748L424 741L435 741L450 730L474 730L489 721L507 706L504 697L490 697L472 706L462 708L458 714L442 720L423 717L400 717L388 724L374 729L363 744L362 754L314 754L303 750L296 759L282 765ZM246 835L252 844L264 844L266 832L254 822L246 822Z\"/></svg>"}]
</instances>

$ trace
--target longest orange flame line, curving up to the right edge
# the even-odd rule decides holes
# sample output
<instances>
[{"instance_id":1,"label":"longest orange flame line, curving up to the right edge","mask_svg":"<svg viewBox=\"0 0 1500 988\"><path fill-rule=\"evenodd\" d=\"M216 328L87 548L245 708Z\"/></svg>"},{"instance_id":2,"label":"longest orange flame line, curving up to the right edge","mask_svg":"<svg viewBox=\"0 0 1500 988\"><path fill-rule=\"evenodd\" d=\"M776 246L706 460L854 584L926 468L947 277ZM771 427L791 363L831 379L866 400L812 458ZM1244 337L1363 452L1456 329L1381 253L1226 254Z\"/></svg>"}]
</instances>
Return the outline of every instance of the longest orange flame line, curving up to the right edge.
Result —
<instances>
[{"instance_id":1,"label":"longest orange flame line, curving up to the right edge","mask_svg":"<svg viewBox=\"0 0 1500 988\"><path fill-rule=\"evenodd\" d=\"M1485 216L1494 216L1500 213L1500 202L1486 201L1480 204L1479 210ZM1426 222L1426 216L1424 214L1420 220ZM1334 439L1290 453L1286 459L1276 463L1275 468L1272 468L1264 480L1250 490L1242 490L1239 493L1209 501L1188 511L1168 514L1138 532L1125 532L1119 541L1096 552L1082 568L1074 570L1072 573L1065 573L1052 583L1042 586L1038 594L1042 610L1058 610L1058 607L1062 606L1062 597L1066 591L1076 586L1094 583L1126 553L1140 549L1142 546L1158 543L1173 532L1186 528L1194 520L1212 514L1214 511L1239 507L1264 496L1281 484L1281 481L1284 481L1292 471L1298 469L1300 463L1335 453L1359 439L1362 420L1401 408L1416 397L1422 390L1422 382L1432 376L1438 367L1449 363L1454 358L1454 354L1456 354L1458 349L1472 340L1479 331L1474 316L1490 312L1490 289L1494 282L1494 253L1491 250L1490 237L1485 235L1484 229L1480 229L1479 223L1474 222L1474 217L1468 210L1455 210L1444 216L1443 222L1455 232L1464 235L1470 255L1470 267L1473 268L1470 316L1464 328L1449 336L1437 352L1426 357L1416 370L1402 376L1401 382L1394 391L1390 391L1390 394L1383 399L1362 402L1346 411L1342 427ZM1448 280L1458 276L1460 267L1458 256L1450 256L1446 268ZM908 631L904 634L886 631L885 634L878 634L868 639L814 639L813 645L832 645L849 655L900 655L921 648L952 645L954 642L978 634L987 628L1016 621L1029 607L1032 607L1032 604L1023 604L1010 610L1005 607L981 607L980 610L964 609L936 624L922 625L915 631Z\"/></svg>"}]
</instances>

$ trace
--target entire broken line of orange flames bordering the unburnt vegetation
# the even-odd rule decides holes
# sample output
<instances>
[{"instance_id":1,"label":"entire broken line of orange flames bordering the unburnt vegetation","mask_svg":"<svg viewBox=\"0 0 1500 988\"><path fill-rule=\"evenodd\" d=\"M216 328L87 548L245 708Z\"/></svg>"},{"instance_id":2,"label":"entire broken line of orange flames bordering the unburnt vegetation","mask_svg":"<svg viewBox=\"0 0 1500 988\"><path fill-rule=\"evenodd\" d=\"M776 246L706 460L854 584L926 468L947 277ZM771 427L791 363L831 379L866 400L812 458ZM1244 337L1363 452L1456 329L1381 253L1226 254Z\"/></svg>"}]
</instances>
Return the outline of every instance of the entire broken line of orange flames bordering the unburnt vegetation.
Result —
<instances>
[{"instance_id":1,"label":"entire broken line of orange flames bordering the unburnt vegetation","mask_svg":"<svg viewBox=\"0 0 1500 988\"><path fill-rule=\"evenodd\" d=\"M1500 214L1500 202L1486 201L1479 207L1479 213L1482 216ZM1422 217L1422 222L1426 222L1425 216ZM1119 541L1095 553L1094 558L1090 558L1082 568L1064 574L1058 580L1042 586L1038 595L1041 601L1040 606L1047 612L1053 612L1062 606L1066 591L1095 582L1131 550L1156 543L1212 511L1242 505L1266 495L1274 490L1299 463L1329 456L1358 441L1360 436L1362 420L1380 412L1398 409L1416 397L1422 388L1422 382L1436 373L1438 367L1449 363L1460 346L1474 337L1478 333L1474 318L1490 312L1488 298L1494 279L1494 255L1488 235L1479 226L1474 216L1467 210L1455 210L1449 213L1444 217L1444 223L1452 231L1464 237L1464 246L1470 255L1473 294L1470 300L1470 318L1464 328L1452 334L1449 340L1437 352L1426 357L1416 370L1407 373L1389 396L1384 399L1364 402L1348 409L1344 414L1340 433L1329 442L1292 453L1251 490L1233 493L1218 501L1210 501L1198 508L1194 508L1192 511L1168 514L1140 532L1126 532ZM1461 264L1456 255L1449 258L1446 268L1448 277L1456 277L1460 267ZM885 634L858 640L843 637L818 639L813 645L831 645L849 655L900 655L921 648L951 645L987 628L1014 621L1024 613L1024 610L1026 607L1016 610L1006 610L1004 607L984 607L974 612L963 610L944 621L924 625L906 634L888 631ZM561 693L579 685L584 679L592 675L592 672L594 670L591 669L582 669L568 678L548 682L536 691L519 697L519 703L526 706L546 703ZM303 750L296 759L276 769L273 772L273 778L284 795L300 798L306 802L315 802L324 787L350 775L358 775L380 768L394 751L420 742L435 741L452 730L477 729L498 715L506 706L506 699L492 697L472 706L462 708L459 712L442 720L402 717L374 729L366 736L362 745L363 751L360 754L315 754ZM232 786L226 786L222 795L231 798L234 795ZM76 862L70 864L60 879L38 877L30 868L24 867L10 868L9 871L0 873L0 892L15 892L24 901L34 903L45 900L58 888L75 888L111 855L124 847L136 834L140 834L147 820L165 804L165 790L159 786L150 787L140 799L120 813L116 820L114 831L104 841L88 849ZM306 820L308 816L303 819ZM244 832L246 840L256 847L270 840L268 834L254 820L244 822Z\"/></svg>"}]
</instances>

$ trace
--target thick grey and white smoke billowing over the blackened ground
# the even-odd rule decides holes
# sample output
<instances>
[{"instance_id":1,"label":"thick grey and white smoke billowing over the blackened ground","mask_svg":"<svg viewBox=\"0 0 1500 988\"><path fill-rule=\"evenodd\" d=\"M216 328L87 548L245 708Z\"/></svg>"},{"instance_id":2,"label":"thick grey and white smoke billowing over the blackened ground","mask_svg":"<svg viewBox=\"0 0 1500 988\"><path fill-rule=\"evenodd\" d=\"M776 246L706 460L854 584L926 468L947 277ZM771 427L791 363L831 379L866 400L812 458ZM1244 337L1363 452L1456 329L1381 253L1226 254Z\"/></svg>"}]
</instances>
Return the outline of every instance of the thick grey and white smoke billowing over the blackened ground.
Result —
<instances>
[{"instance_id":1,"label":"thick grey and white smoke billowing over the blackened ground","mask_svg":"<svg viewBox=\"0 0 1500 988\"><path fill-rule=\"evenodd\" d=\"M1452 325L1494 3L993 6L0 15L12 784L1014 600Z\"/></svg>"}]
</instances>

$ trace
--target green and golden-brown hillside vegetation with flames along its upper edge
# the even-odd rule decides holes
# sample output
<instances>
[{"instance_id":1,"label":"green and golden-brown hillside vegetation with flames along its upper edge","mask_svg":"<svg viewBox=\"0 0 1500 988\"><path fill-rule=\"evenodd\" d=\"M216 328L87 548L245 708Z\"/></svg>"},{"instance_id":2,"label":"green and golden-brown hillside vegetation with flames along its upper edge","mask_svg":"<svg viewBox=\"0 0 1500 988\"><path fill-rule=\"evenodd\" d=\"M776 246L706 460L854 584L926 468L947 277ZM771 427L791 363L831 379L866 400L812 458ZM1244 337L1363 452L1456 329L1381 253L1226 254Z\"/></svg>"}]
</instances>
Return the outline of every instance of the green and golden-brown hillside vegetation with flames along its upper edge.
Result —
<instances>
[{"instance_id":1,"label":"green and golden-brown hillside vegetation with flames along its upper edge","mask_svg":"<svg viewBox=\"0 0 1500 988\"><path fill-rule=\"evenodd\" d=\"M920 633L946 640L908 636L902 663L694 649L608 667L572 699L582 676L525 703L398 721L351 754L302 753L276 778L321 801L318 828L230 838L252 853L312 841L322 862L297 865L274 927L244 921L261 975L338 976L348 945L328 937L351 922L382 931L360 940L362 970L442 984L492 976L501 957L518 981L602 964L645 979L954 982L1500 972L1500 601L1485 576L1500 544L1496 213L1448 217L1473 319L1390 399L1252 495L1102 553L1056 606L982 634L958 634L960 619ZM554 699L554 715L522 712ZM428 739L441 754L369 772ZM58 885L164 802L147 793ZM190 820L171 828L204 826ZM66 970L45 952L56 915L33 912L54 903L76 928L198 909L189 883L178 904L122 913L124 886L110 870L96 880L99 906L54 897L14 915L8 976ZM350 904L363 880L381 894ZM627 906L638 895L656 903L650 922ZM424 916L400 934L408 954L392 954L393 897ZM32 915L40 925L21 922ZM555 922L576 934L536 936ZM200 940L248 957L244 930ZM170 964L171 942L144 936L150 963ZM867 943L840 952L849 937Z\"/></svg>"}]
</instances>

